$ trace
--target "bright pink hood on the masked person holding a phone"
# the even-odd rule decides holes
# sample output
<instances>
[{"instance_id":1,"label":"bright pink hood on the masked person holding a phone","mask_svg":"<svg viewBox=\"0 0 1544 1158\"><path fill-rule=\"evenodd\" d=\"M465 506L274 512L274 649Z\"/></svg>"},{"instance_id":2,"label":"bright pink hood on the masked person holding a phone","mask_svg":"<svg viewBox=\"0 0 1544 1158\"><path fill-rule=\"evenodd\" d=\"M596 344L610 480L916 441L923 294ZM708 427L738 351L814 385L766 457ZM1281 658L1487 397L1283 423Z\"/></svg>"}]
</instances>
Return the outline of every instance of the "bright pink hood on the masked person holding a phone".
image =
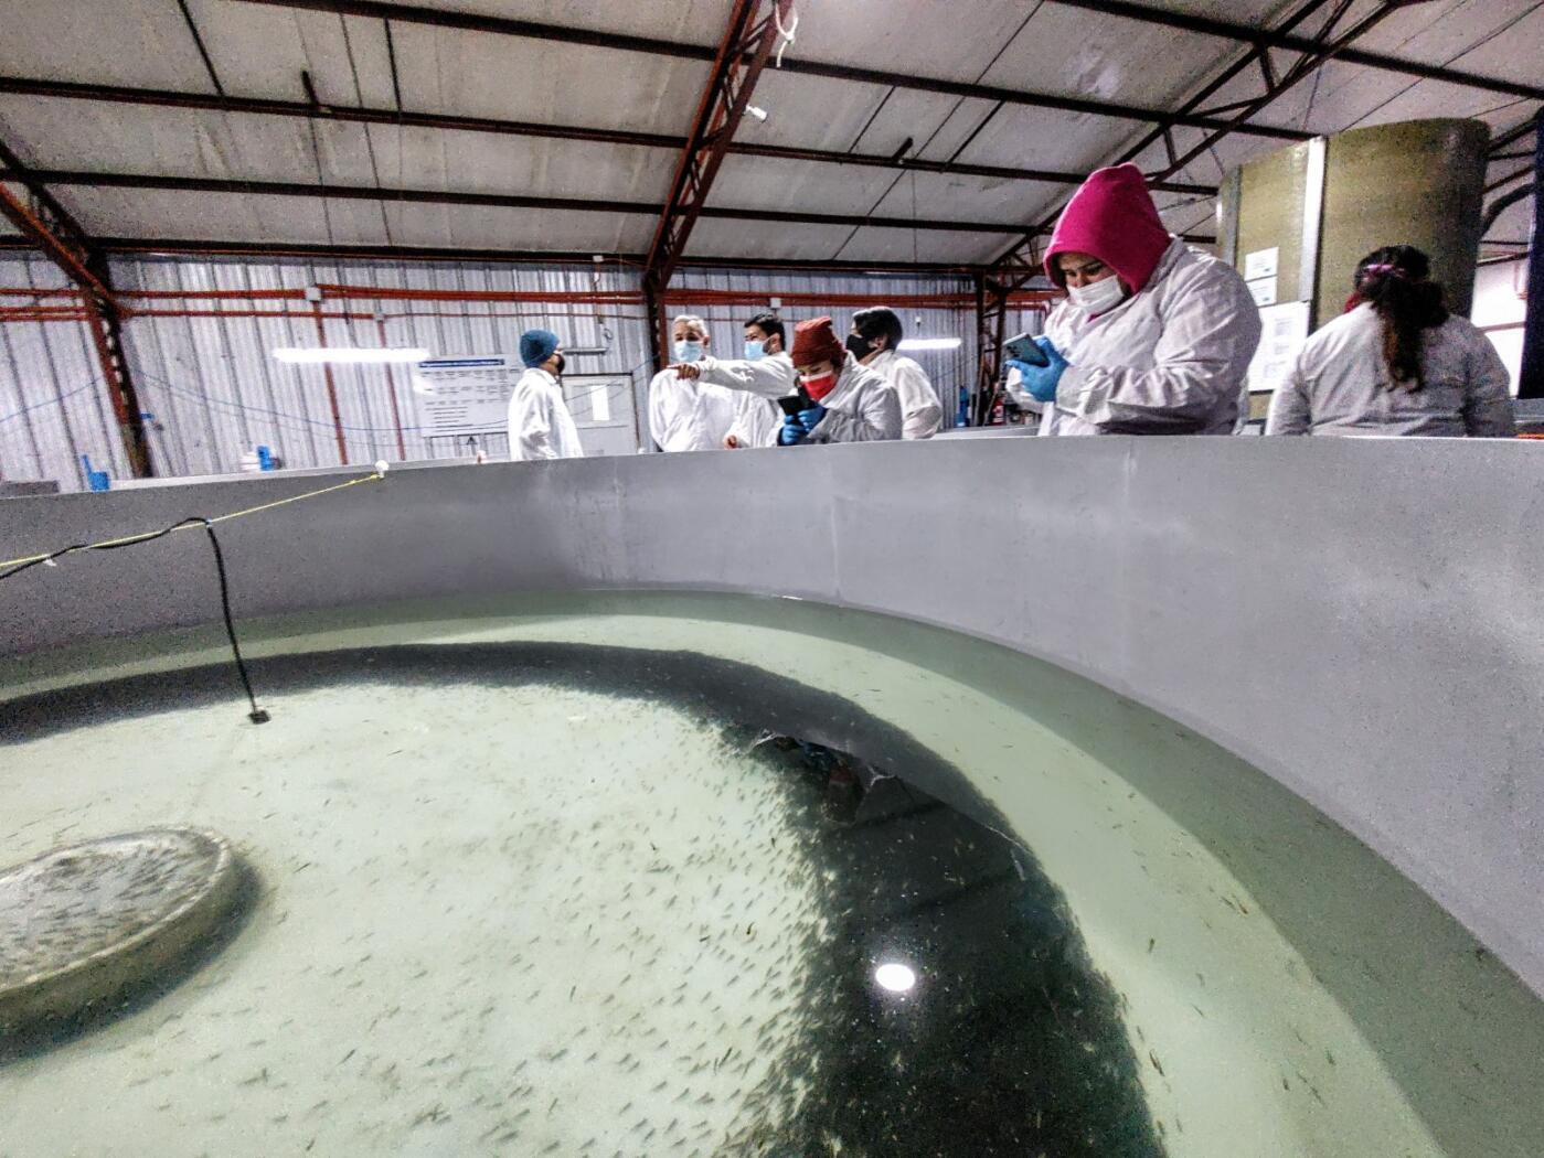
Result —
<instances>
[{"instance_id":1,"label":"bright pink hood on the masked person holding a phone","mask_svg":"<svg viewBox=\"0 0 1544 1158\"><path fill-rule=\"evenodd\" d=\"M1089 253L1115 270L1121 281L1141 291L1153 276L1164 250L1169 230L1158 217L1158 208L1147 193L1143 171L1135 165L1095 170L1072 194L1045 247L1045 276L1062 284L1055 265L1058 253Z\"/></svg>"}]
</instances>

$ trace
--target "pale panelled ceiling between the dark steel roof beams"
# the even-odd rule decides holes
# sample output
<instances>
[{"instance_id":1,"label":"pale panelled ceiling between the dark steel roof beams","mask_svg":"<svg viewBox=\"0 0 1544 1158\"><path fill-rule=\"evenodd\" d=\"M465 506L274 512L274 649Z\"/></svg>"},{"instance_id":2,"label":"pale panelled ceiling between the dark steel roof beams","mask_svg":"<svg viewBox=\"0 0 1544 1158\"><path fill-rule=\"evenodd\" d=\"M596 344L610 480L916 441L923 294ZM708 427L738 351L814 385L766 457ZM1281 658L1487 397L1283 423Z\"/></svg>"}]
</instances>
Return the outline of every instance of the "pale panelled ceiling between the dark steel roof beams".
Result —
<instances>
[{"instance_id":1,"label":"pale panelled ceiling between the dark steel roof beams","mask_svg":"<svg viewBox=\"0 0 1544 1158\"><path fill-rule=\"evenodd\" d=\"M1359 0L1348 22L1374 6ZM418 6L534 20L716 46L730 0L418 0ZM1269 25L1297 5L1283 0L1170 0L1172 11ZM1212 35L1156 28L1084 8L851 0L806 3L791 56L803 60L997 85L1025 93L1177 108L1243 54ZM188 0L188 12L224 91L238 97L323 105L401 106L542 125L581 125L684 136L709 65L423 23L298 11L230 0ZM1309 20L1300 31L1312 31ZM9 0L0 72L14 77L213 93L215 85L176 0ZM1538 83L1544 5L1536 0L1430 0L1385 19L1359 48ZM392 76L395 59L395 79ZM1292 54L1278 56L1286 66ZM1246 99L1255 69L1215 97ZM736 142L862 151L903 148L936 162L1082 173L1141 139L1149 125L1089 113L997 105L974 97L899 89L769 69L755 96L769 117L747 117ZM1360 65L1329 63L1265 109L1258 120L1312 133L1417 116L1481 116L1496 128L1522 122L1536 102ZM0 137L23 160L52 170L287 180L442 191L503 193L662 204L672 148L493 136L398 125L313 122L247 113L148 108L88 100L0 97ZM1177 130L1180 148L1200 140ZM909 145L908 145L909 142ZM1212 185L1223 167L1280 142L1232 136L1180 180ZM1156 167L1161 145L1141 159ZM1501 177L1516 162L1493 170ZM1031 225L1067 194L1045 182L916 174L730 154L710 205L875 214L948 222ZM86 227L110 236L253 242L434 245L506 250L647 248L644 214L506 210L479 205L307 202L242 193L176 193L60 187ZM1210 231L1210 199L1160 194L1177 230ZM1493 233L1515 239L1525 205ZM922 261L976 264L1011 242L1005 234L919 231L758 220L703 220L695 256Z\"/></svg>"}]
</instances>

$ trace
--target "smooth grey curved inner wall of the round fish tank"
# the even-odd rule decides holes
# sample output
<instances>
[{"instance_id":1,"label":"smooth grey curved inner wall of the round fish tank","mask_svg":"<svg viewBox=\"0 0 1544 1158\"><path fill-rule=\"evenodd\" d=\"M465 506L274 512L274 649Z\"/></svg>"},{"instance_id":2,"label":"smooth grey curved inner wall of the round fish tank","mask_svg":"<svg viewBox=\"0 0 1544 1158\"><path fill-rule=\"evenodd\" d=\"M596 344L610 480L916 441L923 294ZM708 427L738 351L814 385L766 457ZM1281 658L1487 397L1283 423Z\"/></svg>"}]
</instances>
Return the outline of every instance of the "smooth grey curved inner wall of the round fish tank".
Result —
<instances>
[{"instance_id":1,"label":"smooth grey curved inner wall of the round fish tank","mask_svg":"<svg viewBox=\"0 0 1544 1158\"><path fill-rule=\"evenodd\" d=\"M323 481L14 500L0 558ZM221 534L242 615L687 587L1005 643L1252 762L1544 993L1541 504L1525 443L959 439L400 470ZM0 646L213 620L201 540L6 583Z\"/></svg>"}]
</instances>

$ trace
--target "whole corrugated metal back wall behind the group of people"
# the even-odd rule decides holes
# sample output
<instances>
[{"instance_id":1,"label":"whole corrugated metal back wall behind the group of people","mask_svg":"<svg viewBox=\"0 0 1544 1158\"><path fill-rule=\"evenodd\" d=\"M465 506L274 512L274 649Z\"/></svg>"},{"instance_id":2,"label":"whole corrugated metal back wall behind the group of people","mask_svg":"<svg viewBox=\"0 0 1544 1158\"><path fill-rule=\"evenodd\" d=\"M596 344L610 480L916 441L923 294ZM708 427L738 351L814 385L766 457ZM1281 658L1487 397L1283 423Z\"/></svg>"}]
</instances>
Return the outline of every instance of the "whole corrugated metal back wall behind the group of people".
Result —
<instances>
[{"instance_id":1,"label":"whole corrugated metal back wall behind the group of people","mask_svg":"<svg viewBox=\"0 0 1544 1158\"><path fill-rule=\"evenodd\" d=\"M636 273L615 267L139 259L114 262L113 274L120 291L156 295L131 298L136 316L125 324L124 338L142 410L150 415L157 475L230 473L259 444L289 467L337 466L344 453L349 463L468 453L465 446L423 436L406 367L332 365L344 443L340 453L324 370L278 362L270 353L281 345L320 344L312 307L295 298L307 285L537 296L639 290ZM65 282L40 258L8 256L0 259L0 285L62 288ZM695 290L818 301L851 295L897 301L956 296L959 305L905 307L900 313L911 336L962 339L954 350L913 355L939 389L950 424L959 409L959 389L974 381L976 333L967 279L684 271L672 284L672 291ZM236 298L181 296L212 291ZM276 298L273 291L290 296ZM15 298L6 301L17 304ZM743 322L758 308L672 305L673 313L709 319L720 356L740 355ZM784 305L781 315L794 322L828 311L845 333L854 308L800 304ZM417 345L435 355L513 352L522 330L545 325L568 345L604 348L604 355L571 359L571 370L630 375L635 404L645 413L648 332L636 304L327 296L321 310L349 315L323 321L329 345ZM188 311L199 316L185 316ZM641 429L647 439L647 421ZM503 441L491 439L485 449L503 455ZM82 489L82 455L114 476L127 470L88 328L80 322L0 322L0 473Z\"/></svg>"}]
</instances>

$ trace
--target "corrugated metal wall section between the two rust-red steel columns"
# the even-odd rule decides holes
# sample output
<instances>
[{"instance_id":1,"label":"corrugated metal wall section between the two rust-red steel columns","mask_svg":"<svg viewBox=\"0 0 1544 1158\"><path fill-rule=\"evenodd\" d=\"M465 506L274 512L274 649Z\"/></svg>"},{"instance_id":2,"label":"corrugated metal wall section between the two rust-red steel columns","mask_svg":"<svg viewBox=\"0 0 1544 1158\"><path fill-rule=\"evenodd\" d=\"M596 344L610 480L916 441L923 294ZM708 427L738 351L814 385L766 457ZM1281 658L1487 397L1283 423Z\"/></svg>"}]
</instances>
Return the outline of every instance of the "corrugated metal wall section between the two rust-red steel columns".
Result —
<instances>
[{"instance_id":1,"label":"corrugated metal wall section between the two rust-red steel columns","mask_svg":"<svg viewBox=\"0 0 1544 1158\"><path fill-rule=\"evenodd\" d=\"M628 290L622 276L582 268L514 265L428 265L420 262L188 262L144 261L114 267L120 290L258 293L349 285L443 293L582 293ZM145 302L139 302L144 305ZM157 302L181 307L182 301ZM190 299L198 305L198 299ZM267 446L284 466L338 466L377 458L452 458L468 453L418 429L411 375L405 365L298 365L278 362L275 347L320 345L304 302L256 298L253 311L295 316L145 316L125 327L125 341L144 409L154 415L151 446L157 470L205 475L238 470L242 453ZM229 310L230 301L218 302ZM573 307L556 302L411 302L327 298L321 311L327 345L423 347L434 355L505 353L533 325L567 344L605 347L599 358L574 359L584 373L624 373L644 382L647 332L638 307ZM337 315L352 316L337 316ZM344 450L327 398L330 372ZM395 410L394 410L395 401ZM499 436L489 453L508 452Z\"/></svg>"}]
</instances>

